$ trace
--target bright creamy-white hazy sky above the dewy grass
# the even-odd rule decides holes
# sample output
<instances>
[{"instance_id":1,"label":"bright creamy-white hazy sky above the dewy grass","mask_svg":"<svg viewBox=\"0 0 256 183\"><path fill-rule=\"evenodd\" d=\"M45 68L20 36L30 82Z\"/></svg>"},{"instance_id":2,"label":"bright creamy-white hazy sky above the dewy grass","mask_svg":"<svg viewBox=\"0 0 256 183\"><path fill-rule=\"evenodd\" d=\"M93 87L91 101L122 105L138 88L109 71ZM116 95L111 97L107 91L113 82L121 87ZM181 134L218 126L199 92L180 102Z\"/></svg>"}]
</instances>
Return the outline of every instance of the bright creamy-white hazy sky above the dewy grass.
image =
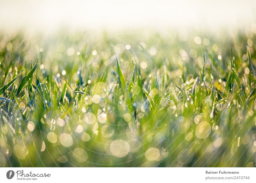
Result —
<instances>
[{"instance_id":1,"label":"bright creamy-white hazy sky above the dewy grass","mask_svg":"<svg viewBox=\"0 0 256 183\"><path fill-rule=\"evenodd\" d=\"M58 26L235 26L255 22L255 0L0 0L0 25L54 29Z\"/></svg>"}]
</instances>

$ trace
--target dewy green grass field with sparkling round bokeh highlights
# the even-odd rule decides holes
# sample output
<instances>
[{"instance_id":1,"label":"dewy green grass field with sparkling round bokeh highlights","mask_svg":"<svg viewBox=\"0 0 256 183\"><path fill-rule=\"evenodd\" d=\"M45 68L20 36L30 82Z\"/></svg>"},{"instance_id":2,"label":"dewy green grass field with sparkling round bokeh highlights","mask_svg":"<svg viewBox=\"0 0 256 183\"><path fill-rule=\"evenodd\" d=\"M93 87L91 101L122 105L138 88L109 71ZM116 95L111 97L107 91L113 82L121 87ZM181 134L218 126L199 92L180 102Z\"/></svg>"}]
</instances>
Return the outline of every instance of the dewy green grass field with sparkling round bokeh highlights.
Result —
<instances>
[{"instance_id":1,"label":"dewy green grass field with sparkling round bokeh highlights","mask_svg":"<svg viewBox=\"0 0 256 183\"><path fill-rule=\"evenodd\" d=\"M2 32L0 166L256 166L256 28L232 33Z\"/></svg>"}]
</instances>

